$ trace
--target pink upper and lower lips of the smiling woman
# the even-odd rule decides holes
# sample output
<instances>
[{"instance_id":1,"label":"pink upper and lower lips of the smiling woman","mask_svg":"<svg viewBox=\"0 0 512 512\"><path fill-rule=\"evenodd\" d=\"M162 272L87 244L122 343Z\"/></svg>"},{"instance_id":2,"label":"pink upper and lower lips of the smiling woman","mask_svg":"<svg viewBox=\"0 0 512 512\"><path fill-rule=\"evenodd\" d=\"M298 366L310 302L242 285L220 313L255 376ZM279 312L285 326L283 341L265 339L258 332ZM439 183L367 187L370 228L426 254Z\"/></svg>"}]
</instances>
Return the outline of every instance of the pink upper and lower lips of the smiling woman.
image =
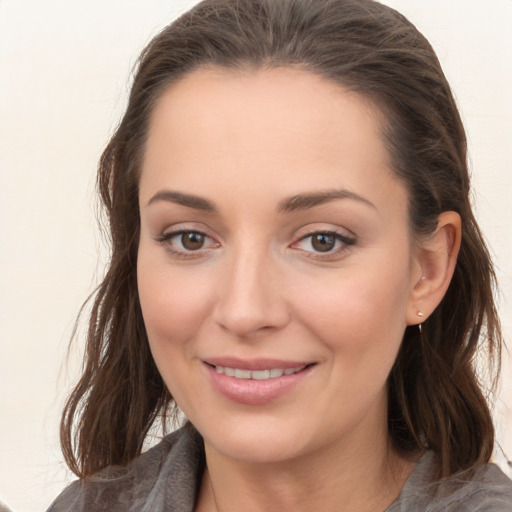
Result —
<instances>
[{"instance_id":1,"label":"pink upper and lower lips of the smiling woman","mask_svg":"<svg viewBox=\"0 0 512 512\"><path fill-rule=\"evenodd\" d=\"M282 361L276 359L240 360L236 358L213 358L203 361L203 366L208 374L214 389L224 398L230 401L246 405L264 405L271 403L285 394L291 392L308 375L310 375L314 363ZM282 375L266 380L237 379L224 373L218 373L215 366L238 368L240 370L267 370L272 368L298 368L304 369L292 375Z\"/></svg>"}]
</instances>

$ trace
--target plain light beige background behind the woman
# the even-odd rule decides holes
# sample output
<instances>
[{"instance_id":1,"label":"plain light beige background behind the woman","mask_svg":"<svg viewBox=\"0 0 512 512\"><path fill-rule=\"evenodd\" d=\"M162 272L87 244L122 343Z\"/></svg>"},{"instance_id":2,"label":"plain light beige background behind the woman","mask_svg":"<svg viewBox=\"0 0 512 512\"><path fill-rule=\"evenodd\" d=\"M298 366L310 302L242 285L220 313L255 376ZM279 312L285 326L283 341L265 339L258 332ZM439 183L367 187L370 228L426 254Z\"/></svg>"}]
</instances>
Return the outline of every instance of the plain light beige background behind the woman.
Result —
<instances>
[{"instance_id":1,"label":"plain light beige background behind the woman","mask_svg":"<svg viewBox=\"0 0 512 512\"><path fill-rule=\"evenodd\" d=\"M0 0L0 499L44 510L71 479L58 421L75 315L101 275L94 175L143 45L191 0ZM469 135L475 203L512 335L512 1L387 0L431 40ZM497 422L512 456L512 379ZM508 404L508 406L507 406ZM497 453L500 458L500 454Z\"/></svg>"}]
</instances>

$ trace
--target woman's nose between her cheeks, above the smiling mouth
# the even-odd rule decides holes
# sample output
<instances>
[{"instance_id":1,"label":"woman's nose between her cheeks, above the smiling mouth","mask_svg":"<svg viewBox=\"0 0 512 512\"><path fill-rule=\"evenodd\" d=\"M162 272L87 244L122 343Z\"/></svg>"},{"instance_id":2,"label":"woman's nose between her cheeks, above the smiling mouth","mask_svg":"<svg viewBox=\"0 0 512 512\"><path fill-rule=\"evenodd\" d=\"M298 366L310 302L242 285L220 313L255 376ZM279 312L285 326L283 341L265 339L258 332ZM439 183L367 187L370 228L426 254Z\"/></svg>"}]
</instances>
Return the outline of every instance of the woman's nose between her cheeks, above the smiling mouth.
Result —
<instances>
[{"instance_id":1,"label":"woman's nose between her cheeks, above the smiling mouth","mask_svg":"<svg viewBox=\"0 0 512 512\"><path fill-rule=\"evenodd\" d=\"M219 275L215 322L239 338L283 328L290 315L278 267L265 251L233 254Z\"/></svg>"}]
</instances>

